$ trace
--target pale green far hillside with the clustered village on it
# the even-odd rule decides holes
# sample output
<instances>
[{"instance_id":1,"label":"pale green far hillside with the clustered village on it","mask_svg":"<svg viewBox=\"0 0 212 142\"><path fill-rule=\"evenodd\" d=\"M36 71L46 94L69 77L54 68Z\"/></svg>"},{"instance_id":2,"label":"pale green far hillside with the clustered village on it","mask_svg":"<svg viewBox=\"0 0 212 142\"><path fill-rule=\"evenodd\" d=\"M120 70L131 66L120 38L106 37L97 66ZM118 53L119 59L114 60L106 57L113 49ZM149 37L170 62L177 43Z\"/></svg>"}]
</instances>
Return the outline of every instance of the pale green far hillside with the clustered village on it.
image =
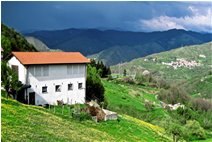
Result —
<instances>
[{"instance_id":1,"label":"pale green far hillside with the clustered village on it","mask_svg":"<svg viewBox=\"0 0 212 142\"><path fill-rule=\"evenodd\" d=\"M113 73L127 70L129 75L135 75L138 71L149 70L156 77L170 82L180 83L185 86L193 86L195 94L202 93L210 97L212 94L212 42L185 46L167 52L153 54L144 58L138 58L128 63L112 66ZM177 67L177 64L181 67ZM191 65L187 66L186 65ZM200 84L201 87L200 87ZM192 89L191 88L191 89Z\"/></svg>"}]
</instances>

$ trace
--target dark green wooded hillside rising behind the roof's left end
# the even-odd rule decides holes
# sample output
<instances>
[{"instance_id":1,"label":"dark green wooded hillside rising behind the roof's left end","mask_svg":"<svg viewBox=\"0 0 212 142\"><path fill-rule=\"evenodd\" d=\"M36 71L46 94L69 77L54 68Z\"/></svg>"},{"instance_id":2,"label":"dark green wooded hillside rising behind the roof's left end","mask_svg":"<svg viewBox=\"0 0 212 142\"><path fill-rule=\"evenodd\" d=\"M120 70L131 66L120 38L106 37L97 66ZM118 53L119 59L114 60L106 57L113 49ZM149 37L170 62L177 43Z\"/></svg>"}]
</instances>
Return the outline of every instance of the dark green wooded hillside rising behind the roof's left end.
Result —
<instances>
[{"instance_id":1,"label":"dark green wooded hillside rising behind the roof's left end","mask_svg":"<svg viewBox=\"0 0 212 142\"><path fill-rule=\"evenodd\" d=\"M1 23L1 47L4 50L3 60L8 60L12 51L37 51L20 33L3 23Z\"/></svg>"}]
</instances>

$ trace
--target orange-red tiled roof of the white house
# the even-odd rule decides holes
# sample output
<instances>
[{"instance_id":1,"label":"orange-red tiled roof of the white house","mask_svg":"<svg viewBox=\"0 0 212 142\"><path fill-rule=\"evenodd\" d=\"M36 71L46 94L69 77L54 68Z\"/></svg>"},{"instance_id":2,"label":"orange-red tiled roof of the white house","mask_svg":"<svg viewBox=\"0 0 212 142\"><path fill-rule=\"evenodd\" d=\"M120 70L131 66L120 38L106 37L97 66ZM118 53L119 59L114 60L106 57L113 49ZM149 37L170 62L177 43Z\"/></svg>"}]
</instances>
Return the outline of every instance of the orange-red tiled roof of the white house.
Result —
<instances>
[{"instance_id":1,"label":"orange-red tiled roof of the white house","mask_svg":"<svg viewBox=\"0 0 212 142\"><path fill-rule=\"evenodd\" d=\"M23 65L90 62L79 52L12 52L12 54Z\"/></svg>"}]
</instances>

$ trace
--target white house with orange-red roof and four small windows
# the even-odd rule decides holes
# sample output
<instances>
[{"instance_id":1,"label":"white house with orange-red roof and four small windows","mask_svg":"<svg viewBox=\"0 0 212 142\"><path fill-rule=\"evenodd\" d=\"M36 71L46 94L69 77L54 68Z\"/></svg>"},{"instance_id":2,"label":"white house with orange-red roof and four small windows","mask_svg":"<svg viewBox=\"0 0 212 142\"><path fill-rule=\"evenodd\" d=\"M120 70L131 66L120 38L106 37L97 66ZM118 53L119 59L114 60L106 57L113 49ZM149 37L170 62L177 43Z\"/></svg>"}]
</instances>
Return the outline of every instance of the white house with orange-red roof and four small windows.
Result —
<instances>
[{"instance_id":1,"label":"white house with orange-red roof and four small windows","mask_svg":"<svg viewBox=\"0 0 212 142\"><path fill-rule=\"evenodd\" d=\"M85 103L86 64L79 52L12 52L8 61L26 87L28 104Z\"/></svg>"}]
</instances>

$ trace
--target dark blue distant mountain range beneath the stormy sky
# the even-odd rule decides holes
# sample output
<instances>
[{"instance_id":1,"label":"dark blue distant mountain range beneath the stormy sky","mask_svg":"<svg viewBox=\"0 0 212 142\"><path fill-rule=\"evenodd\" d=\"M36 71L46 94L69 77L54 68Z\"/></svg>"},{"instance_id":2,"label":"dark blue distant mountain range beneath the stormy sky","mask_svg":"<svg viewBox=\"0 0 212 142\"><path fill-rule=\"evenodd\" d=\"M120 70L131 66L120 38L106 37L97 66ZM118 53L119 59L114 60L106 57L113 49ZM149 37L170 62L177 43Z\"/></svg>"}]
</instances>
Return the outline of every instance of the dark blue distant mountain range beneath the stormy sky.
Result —
<instances>
[{"instance_id":1,"label":"dark blue distant mountain range beneath the stormy sky","mask_svg":"<svg viewBox=\"0 0 212 142\"><path fill-rule=\"evenodd\" d=\"M25 36L35 37L51 49L79 51L88 57L102 60L107 65L212 40L212 34L177 29L145 33L72 28L36 31L26 33Z\"/></svg>"}]
</instances>

